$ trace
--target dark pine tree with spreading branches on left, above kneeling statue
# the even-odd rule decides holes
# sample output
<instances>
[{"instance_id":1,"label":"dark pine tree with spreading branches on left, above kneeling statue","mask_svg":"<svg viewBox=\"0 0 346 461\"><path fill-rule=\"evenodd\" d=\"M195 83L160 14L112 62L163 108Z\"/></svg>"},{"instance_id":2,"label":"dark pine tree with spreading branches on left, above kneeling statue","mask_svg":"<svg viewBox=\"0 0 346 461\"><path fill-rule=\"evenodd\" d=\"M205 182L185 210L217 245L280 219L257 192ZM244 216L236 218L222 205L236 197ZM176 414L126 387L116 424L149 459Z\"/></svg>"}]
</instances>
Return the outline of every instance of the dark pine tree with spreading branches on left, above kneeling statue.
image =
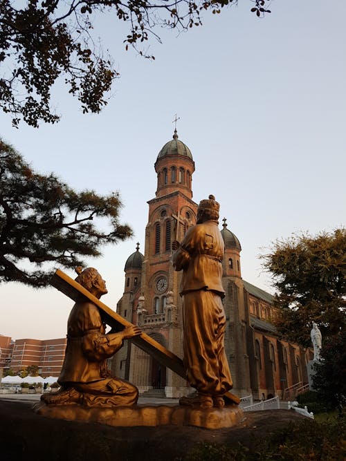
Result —
<instances>
[{"instance_id":1,"label":"dark pine tree with spreading branches on left, above kneeling statue","mask_svg":"<svg viewBox=\"0 0 346 461\"><path fill-rule=\"evenodd\" d=\"M121 206L118 193L78 193L53 174L35 173L0 140L0 281L40 287L51 276L44 263L75 267L83 256L100 256L100 246L131 236L118 222ZM107 232L95 218L107 220Z\"/></svg>"}]
</instances>

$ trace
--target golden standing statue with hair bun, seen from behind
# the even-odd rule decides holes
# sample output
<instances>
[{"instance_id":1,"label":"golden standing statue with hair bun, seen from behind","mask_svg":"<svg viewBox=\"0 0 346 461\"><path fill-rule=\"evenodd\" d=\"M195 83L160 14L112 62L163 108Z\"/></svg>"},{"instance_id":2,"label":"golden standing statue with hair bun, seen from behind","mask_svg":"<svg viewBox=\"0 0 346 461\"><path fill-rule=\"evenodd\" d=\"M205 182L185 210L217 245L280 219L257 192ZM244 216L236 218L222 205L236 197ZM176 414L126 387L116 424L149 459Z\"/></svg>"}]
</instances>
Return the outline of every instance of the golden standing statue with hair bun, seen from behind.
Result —
<instances>
[{"instance_id":1,"label":"golden standing statue with hair bun, seen from behind","mask_svg":"<svg viewBox=\"0 0 346 461\"><path fill-rule=\"evenodd\" d=\"M172 243L174 269L183 270L183 363L188 383L197 390L179 402L199 408L222 408L223 395L232 388L224 350L224 239L218 219L219 203L210 195L199 203L197 225L188 229L181 243Z\"/></svg>"}]
</instances>

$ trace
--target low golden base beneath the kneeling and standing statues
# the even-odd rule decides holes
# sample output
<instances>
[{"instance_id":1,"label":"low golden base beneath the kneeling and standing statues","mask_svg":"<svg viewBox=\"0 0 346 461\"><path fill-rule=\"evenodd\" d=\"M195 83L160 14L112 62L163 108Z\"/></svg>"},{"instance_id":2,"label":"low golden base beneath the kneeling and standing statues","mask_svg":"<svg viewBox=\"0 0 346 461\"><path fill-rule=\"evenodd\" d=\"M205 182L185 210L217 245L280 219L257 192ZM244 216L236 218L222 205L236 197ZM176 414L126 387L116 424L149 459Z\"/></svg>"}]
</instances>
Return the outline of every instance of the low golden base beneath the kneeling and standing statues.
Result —
<instances>
[{"instance_id":1,"label":"low golden base beneath the kneeling and standing statues","mask_svg":"<svg viewBox=\"0 0 346 461\"><path fill-rule=\"evenodd\" d=\"M119 406L114 408L86 408L80 405L46 405L33 407L38 415L83 422L98 422L109 426L197 426L206 429L233 427L244 419L239 406L224 408L190 408L186 406Z\"/></svg>"}]
</instances>

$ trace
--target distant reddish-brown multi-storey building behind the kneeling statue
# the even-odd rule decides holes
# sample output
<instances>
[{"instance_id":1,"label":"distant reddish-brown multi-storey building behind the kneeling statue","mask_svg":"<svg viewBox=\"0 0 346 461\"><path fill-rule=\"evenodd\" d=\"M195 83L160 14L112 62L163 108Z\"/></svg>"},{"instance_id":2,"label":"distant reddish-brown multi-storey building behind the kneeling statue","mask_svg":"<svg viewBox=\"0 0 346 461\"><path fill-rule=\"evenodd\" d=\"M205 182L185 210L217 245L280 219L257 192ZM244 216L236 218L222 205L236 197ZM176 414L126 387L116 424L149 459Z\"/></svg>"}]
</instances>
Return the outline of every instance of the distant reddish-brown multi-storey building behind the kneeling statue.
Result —
<instances>
[{"instance_id":1,"label":"distant reddish-brown multi-storey building behind the kneeling statue","mask_svg":"<svg viewBox=\"0 0 346 461\"><path fill-rule=\"evenodd\" d=\"M42 377L58 376L65 357L66 338L17 339L0 336L0 368L17 372L29 365L39 368Z\"/></svg>"}]
</instances>

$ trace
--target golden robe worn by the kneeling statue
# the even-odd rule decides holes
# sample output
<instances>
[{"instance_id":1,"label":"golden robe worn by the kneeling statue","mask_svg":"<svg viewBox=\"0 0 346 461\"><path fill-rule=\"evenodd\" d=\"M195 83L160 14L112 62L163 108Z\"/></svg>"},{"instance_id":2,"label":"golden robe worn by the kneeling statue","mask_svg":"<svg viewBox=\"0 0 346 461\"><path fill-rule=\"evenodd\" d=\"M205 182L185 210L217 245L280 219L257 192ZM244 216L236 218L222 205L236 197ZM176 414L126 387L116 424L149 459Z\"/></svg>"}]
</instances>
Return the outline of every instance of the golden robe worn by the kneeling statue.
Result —
<instances>
[{"instance_id":1,"label":"golden robe worn by the kneeling statue","mask_svg":"<svg viewBox=\"0 0 346 461\"><path fill-rule=\"evenodd\" d=\"M64 364L58 379L63 388L83 393L88 406L132 405L138 389L111 377L106 360L122 347L122 334L105 334L100 311L90 301L78 301L67 322Z\"/></svg>"}]
</instances>

